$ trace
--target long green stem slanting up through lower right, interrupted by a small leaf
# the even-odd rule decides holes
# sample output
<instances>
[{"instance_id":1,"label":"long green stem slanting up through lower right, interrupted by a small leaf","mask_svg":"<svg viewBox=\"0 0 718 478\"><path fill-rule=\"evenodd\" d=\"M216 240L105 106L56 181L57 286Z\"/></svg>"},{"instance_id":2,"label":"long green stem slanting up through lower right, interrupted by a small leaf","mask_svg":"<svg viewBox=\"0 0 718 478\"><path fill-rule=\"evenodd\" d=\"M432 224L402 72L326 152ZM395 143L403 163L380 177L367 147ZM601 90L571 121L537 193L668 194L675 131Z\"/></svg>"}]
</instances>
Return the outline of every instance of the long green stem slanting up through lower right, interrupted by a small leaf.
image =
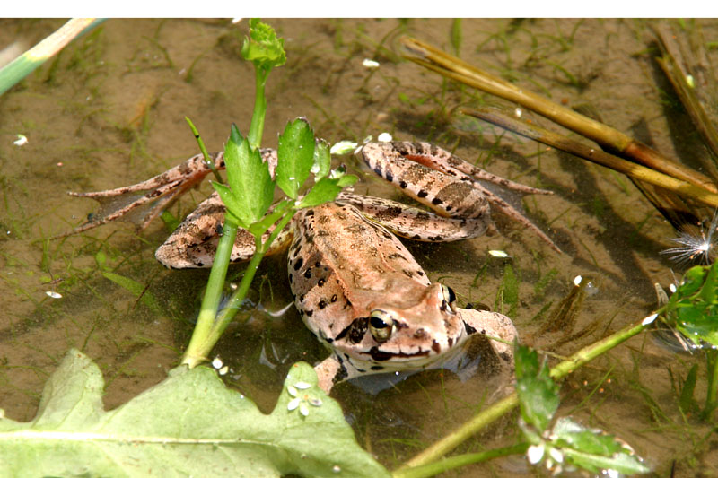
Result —
<instances>
[{"instance_id":1,"label":"long green stem slanting up through lower right, interrupted by a small leaf","mask_svg":"<svg viewBox=\"0 0 718 478\"><path fill-rule=\"evenodd\" d=\"M646 326L647 324L644 325L644 320L642 320L637 324L627 326L615 334L601 339L599 342L592 343L588 347L574 353L574 355L565 361L561 361L553 367L551 369L551 378L564 378L566 375L573 372L575 369L582 367L582 365L587 362L592 361L605 352L608 352L618 344L626 342L626 340L634 335L643 332ZM505 413L510 412L518 404L518 396L516 395L516 392L513 392L511 395L504 397L502 400L474 415L471 420L461 425L459 429L452 431L449 435L440 439L431 447L425 448L424 451L408 460L405 465L399 468L399 471L409 467L427 465L440 459L442 456L449 453L453 448L456 448L466 439L477 433L477 431L486 428L486 426L495 422L495 420L502 417Z\"/></svg>"}]
</instances>

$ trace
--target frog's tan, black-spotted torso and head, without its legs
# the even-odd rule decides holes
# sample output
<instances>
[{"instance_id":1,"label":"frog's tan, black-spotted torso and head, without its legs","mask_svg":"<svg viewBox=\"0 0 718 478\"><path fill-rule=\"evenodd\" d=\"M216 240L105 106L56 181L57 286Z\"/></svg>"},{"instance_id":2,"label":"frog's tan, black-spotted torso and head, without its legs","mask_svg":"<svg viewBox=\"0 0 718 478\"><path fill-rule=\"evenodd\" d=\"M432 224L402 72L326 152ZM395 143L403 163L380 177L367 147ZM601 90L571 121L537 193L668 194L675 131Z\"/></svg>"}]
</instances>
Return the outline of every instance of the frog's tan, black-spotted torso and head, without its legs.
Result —
<instances>
[{"instance_id":1,"label":"frog's tan, black-spotted torso and head, without its legs","mask_svg":"<svg viewBox=\"0 0 718 478\"><path fill-rule=\"evenodd\" d=\"M322 204L300 212L294 227L289 281L304 323L334 352L334 381L425 367L477 331L451 289L432 284L404 245L354 206Z\"/></svg>"}]
</instances>

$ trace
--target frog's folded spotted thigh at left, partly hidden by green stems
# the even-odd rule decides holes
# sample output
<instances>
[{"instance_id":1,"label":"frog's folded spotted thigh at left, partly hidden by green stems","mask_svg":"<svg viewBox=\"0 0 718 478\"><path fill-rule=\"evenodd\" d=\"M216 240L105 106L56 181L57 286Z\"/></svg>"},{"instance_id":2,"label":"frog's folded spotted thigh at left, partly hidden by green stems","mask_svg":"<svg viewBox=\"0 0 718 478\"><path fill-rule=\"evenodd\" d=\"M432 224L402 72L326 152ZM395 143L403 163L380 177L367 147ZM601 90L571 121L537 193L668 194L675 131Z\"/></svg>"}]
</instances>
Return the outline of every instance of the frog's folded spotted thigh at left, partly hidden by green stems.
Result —
<instances>
[{"instance_id":1,"label":"frog's folded spotted thigh at left, partly hidden by green stems","mask_svg":"<svg viewBox=\"0 0 718 478\"><path fill-rule=\"evenodd\" d=\"M194 212L178 226L164 244L157 248L155 258L173 269L193 269L211 267L215 262L215 252L222 235L225 207L217 193L207 197ZM269 238L274 227L267 230L262 240ZM293 225L282 230L267 250L267 256L282 252L293 238ZM255 251L254 236L248 230L239 229L234 241L230 260L243 262L251 258Z\"/></svg>"}]
</instances>

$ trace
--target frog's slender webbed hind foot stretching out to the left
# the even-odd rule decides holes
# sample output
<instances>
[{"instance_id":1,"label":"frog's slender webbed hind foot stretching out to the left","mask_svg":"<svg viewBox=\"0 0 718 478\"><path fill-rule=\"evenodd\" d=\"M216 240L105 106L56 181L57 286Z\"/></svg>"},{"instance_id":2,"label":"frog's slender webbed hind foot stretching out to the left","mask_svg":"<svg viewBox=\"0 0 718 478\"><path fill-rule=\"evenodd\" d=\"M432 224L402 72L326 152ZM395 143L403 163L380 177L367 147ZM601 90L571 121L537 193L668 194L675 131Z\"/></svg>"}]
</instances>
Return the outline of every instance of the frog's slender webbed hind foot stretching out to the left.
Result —
<instances>
[{"instance_id":1,"label":"frog's slender webbed hind foot stretching out to the left","mask_svg":"<svg viewBox=\"0 0 718 478\"><path fill-rule=\"evenodd\" d=\"M210 158L215 161L217 169L224 168L222 152L212 153ZM197 186L210 172L202 154L197 154L179 166L133 186L92 193L68 193L70 196L94 199L101 207L87 222L64 236L112 221L134 222L138 230L144 230L173 201L191 187Z\"/></svg>"}]
</instances>

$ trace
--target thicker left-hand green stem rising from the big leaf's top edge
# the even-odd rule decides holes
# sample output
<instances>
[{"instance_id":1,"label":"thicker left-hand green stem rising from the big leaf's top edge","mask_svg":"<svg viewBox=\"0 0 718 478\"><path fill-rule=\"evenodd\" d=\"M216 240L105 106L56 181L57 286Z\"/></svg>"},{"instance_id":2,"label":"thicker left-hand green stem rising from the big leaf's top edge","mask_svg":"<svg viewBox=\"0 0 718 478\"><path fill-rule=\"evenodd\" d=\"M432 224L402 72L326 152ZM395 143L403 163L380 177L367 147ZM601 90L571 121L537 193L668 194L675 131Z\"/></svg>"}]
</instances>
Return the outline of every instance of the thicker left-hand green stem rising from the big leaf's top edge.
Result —
<instances>
[{"instance_id":1,"label":"thicker left-hand green stem rising from the big leaf's top edge","mask_svg":"<svg viewBox=\"0 0 718 478\"><path fill-rule=\"evenodd\" d=\"M212 351L212 346L215 345L215 343L211 343L209 348L207 348L207 338L215 326L217 308L219 307L220 300L222 300L224 278L227 276L227 268L230 264L232 247L234 246L238 229L239 225L225 215L223 235L217 245L215 262L212 264L212 271L209 273L205 297L202 299L202 307L199 310L197 324L192 333L192 338L189 341L187 351L185 351L182 357L181 363L187 364L190 369L206 361L209 352Z\"/></svg>"}]
</instances>

